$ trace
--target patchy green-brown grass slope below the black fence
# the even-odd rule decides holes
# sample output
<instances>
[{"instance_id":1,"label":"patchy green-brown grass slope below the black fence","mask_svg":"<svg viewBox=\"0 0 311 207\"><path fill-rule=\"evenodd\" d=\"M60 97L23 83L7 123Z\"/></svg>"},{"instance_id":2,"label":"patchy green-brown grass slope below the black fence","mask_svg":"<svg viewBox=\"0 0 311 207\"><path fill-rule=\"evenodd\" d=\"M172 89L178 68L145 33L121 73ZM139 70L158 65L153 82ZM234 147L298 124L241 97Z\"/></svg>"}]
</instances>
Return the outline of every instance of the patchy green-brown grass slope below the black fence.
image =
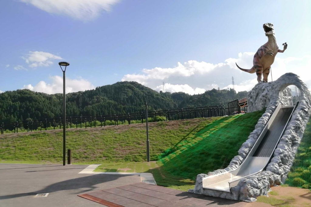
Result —
<instances>
[{"instance_id":1,"label":"patchy green-brown grass slope below the black fence","mask_svg":"<svg viewBox=\"0 0 311 207\"><path fill-rule=\"evenodd\" d=\"M217 118L187 119L149 124L150 158L195 134ZM71 129L66 147L73 163L146 161L146 124ZM61 163L63 132L52 130L0 135L0 161Z\"/></svg>"}]
</instances>

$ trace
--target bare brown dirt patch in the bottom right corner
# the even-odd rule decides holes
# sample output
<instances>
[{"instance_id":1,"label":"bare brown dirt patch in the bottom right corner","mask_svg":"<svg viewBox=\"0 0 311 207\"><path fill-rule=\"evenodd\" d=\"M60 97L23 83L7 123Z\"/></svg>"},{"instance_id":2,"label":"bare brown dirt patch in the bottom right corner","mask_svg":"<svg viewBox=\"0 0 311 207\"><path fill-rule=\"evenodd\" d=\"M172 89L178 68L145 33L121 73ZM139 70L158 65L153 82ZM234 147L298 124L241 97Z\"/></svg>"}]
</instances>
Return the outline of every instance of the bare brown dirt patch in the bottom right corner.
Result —
<instances>
[{"instance_id":1,"label":"bare brown dirt patch in the bottom right corner","mask_svg":"<svg viewBox=\"0 0 311 207\"><path fill-rule=\"evenodd\" d=\"M259 196L256 202L245 207L311 207L311 191L296 187L272 187L268 196Z\"/></svg>"}]
</instances>

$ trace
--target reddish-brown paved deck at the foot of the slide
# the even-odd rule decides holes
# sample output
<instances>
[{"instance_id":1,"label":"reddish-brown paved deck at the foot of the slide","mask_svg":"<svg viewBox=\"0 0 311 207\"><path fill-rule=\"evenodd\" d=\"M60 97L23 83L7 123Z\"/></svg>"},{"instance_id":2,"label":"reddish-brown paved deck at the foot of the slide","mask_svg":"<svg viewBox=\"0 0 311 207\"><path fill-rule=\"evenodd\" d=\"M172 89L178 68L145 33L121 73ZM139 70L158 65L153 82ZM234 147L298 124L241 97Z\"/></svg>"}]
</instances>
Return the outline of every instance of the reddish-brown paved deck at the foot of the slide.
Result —
<instances>
[{"instance_id":1,"label":"reddish-brown paved deck at the foot of the slide","mask_svg":"<svg viewBox=\"0 0 311 207\"><path fill-rule=\"evenodd\" d=\"M111 188L78 195L109 207L243 206L245 202L203 196L147 183Z\"/></svg>"}]
</instances>

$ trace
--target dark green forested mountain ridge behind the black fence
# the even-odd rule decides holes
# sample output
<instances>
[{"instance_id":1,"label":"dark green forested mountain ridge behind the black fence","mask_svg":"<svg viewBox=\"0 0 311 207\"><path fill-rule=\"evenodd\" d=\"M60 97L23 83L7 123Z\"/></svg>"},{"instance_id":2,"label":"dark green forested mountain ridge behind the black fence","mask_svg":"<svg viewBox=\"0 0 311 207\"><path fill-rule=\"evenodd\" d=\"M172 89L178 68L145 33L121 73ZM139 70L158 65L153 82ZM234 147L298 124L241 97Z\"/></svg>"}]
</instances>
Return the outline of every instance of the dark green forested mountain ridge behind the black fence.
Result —
<instances>
[{"instance_id":1,"label":"dark green forested mountain ridge behind the black fence","mask_svg":"<svg viewBox=\"0 0 311 207\"><path fill-rule=\"evenodd\" d=\"M229 100L246 97L247 92L212 89L198 95L183 92L156 92L137 82L118 82L94 90L66 94L67 116L95 116L149 110L227 105ZM45 94L27 89L0 94L0 122L61 117L63 94Z\"/></svg>"}]
</instances>

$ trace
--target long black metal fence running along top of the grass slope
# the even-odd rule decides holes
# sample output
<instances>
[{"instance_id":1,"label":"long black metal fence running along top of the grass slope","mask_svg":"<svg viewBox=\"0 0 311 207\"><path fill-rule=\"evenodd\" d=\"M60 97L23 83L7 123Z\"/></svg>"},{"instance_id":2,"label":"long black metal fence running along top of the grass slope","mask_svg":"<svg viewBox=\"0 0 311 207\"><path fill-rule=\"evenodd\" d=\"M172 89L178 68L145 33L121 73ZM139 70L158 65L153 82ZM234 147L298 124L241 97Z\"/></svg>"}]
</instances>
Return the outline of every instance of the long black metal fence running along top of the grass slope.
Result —
<instances>
[{"instance_id":1,"label":"long black metal fence running along top of the grass slope","mask_svg":"<svg viewBox=\"0 0 311 207\"><path fill-rule=\"evenodd\" d=\"M245 107L244 107L245 108ZM245 109L244 109L245 111ZM203 106L183 109L171 109L171 110L158 110L148 111L148 117L153 122L160 120L179 120L179 119L193 119L200 117L216 117L224 115L233 115L241 113L238 100L234 100L228 103L228 108L224 105L220 106ZM87 128L87 127L102 127L106 126L107 121L111 125L118 125L120 122L131 124L131 122L140 123L145 122L146 112L135 112L126 114L113 114L113 115L100 115L100 116L72 116L66 117L66 128ZM150 121L148 119L148 121ZM31 121L16 121L10 123L0 124L1 134L4 131L14 131L18 133L18 130L33 131L33 130L48 130L48 129L61 129L63 128L63 118L51 118L51 119L38 119Z\"/></svg>"}]
</instances>

